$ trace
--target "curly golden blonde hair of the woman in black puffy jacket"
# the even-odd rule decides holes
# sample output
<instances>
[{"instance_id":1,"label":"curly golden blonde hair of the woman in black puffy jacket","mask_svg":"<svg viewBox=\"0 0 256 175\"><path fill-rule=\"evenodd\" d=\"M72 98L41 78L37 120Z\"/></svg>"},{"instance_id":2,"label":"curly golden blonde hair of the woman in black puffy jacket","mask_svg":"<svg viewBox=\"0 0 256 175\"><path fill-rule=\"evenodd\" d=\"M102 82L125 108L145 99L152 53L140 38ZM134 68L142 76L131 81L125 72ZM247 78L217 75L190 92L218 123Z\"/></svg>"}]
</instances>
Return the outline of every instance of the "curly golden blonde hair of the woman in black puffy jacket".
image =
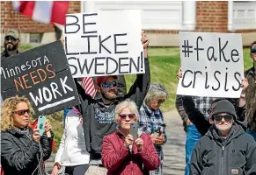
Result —
<instances>
[{"instance_id":1,"label":"curly golden blonde hair of the woman in black puffy jacket","mask_svg":"<svg viewBox=\"0 0 256 175\"><path fill-rule=\"evenodd\" d=\"M1 105L1 123L0 123L0 130L9 130L13 127L13 111L16 109L19 102L26 102L28 109L29 109L29 118L28 122L32 123L32 116L34 114L33 108L31 103L25 96L14 96L4 100L3 104Z\"/></svg>"}]
</instances>

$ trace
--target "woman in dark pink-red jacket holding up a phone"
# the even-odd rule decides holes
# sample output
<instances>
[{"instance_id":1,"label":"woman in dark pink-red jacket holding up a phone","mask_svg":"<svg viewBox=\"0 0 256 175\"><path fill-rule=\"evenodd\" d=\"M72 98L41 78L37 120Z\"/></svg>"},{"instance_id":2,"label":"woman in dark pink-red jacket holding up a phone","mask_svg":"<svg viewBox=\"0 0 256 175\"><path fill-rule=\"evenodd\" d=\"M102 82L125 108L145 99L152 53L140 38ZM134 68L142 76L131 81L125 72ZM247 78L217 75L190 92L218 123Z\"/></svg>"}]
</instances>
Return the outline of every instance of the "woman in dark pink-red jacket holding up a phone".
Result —
<instances>
[{"instance_id":1,"label":"woman in dark pink-red jacket holding up a phone","mask_svg":"<svg viewBox=\"0 0 256 175\"><path fill-rule=\"evenodd\" d=\"M150 135L143 133L137 139L130 135L130 125L137 120L135 102L124 101L116 106L119 129L104 137L102 145L102 163L107 175L145 175L160 165Z\"/></svg>"}]
</instances>

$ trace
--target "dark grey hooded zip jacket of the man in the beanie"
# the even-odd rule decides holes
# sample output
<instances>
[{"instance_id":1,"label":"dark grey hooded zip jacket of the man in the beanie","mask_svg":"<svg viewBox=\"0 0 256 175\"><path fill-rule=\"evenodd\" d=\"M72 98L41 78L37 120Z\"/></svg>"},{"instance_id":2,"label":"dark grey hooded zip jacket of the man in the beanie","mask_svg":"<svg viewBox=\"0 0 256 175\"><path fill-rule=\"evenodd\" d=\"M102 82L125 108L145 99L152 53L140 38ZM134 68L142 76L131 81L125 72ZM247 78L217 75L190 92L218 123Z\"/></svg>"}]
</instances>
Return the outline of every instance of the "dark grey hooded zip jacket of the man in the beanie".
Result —
<instances>
[{"instance_id":1,"label":"dark grey hooded zip jacket of the man in the beanie","mask_svg":"<svg viewBox=\"0 0 256 175\"><path fill-rule=\"evenodd\" d=\"M197 142L190 175L256 175L256 143L238 124L224 139L213 125Z\"/></svg>"}]
</instances>

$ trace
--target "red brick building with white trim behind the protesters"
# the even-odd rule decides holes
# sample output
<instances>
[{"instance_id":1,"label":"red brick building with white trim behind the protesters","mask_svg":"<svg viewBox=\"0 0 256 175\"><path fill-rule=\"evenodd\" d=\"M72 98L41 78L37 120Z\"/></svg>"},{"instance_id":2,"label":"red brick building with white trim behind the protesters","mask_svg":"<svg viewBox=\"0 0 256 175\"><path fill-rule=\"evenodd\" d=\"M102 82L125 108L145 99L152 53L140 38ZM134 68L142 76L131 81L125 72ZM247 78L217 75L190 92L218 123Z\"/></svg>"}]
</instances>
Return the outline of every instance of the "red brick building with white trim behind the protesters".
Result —
<instances>
[{"instance_id":1,"label":"red brick building with white trim behind the protesters","mask_svg":"<svg viewBox=\"0 0 256 175\"><path fill-rule=\"evenodd\" d=\"M18 28L22 43L26 44L55 39L53 25L34 22L11 9L11 2L1 1L1 33L8 28ZM153 46L179 45L179 31L241 32L244 45L250 45L256 38L254 1L69 2L69 13L124 9L142 11L143 30Z\"/></svg>"}]
</instances>

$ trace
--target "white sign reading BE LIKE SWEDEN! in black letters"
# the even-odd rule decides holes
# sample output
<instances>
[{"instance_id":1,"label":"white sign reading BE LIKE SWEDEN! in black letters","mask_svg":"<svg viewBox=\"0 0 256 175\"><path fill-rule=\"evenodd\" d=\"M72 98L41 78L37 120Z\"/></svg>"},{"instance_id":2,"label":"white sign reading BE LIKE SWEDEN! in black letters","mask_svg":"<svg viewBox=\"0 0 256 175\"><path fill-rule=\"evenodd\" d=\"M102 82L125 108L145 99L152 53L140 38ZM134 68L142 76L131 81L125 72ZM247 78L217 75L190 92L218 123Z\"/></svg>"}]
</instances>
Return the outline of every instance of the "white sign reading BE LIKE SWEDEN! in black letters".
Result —
<instances>
[{"instance_id":1,"label":"white sign reading BE LIKE SWEDEN! in black letters","mask_svg":"<svg viewBox=\"0 0 256 175\"><path fill-rule=\"evenodd\" d=\"M73 77L144 73L140 11L66 15L65 52Z\"/></svg>"}]
</instances>

